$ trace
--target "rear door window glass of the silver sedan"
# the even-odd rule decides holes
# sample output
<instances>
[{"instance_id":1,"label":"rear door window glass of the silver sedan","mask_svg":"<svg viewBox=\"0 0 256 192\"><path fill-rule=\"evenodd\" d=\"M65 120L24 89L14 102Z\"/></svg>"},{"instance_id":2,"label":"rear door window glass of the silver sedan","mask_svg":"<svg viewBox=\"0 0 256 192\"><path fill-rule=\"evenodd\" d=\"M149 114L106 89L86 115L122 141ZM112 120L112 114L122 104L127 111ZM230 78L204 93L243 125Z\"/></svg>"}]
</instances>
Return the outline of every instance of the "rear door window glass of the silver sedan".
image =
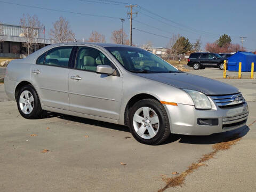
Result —
<instances>
[{"instance_id":1,"label":"rear door window glass of the silver sedan","mask_svg":"<svg viewBox=\"0 0 256 192\"><path fill-rule=\"evenodd\" d=\"M47 51L44 65L68 67L72 49L73 46L61 46Z\"/></svg>"}]
</instances>

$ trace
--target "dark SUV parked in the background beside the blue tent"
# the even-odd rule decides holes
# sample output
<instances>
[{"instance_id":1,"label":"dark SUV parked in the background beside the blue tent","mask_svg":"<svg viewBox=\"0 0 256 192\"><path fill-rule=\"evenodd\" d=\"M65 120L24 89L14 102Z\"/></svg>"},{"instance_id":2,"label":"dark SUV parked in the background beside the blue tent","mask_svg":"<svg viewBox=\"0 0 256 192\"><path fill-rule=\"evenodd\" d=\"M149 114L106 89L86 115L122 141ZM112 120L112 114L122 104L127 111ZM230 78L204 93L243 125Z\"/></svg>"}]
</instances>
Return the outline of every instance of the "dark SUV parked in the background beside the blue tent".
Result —
<instances>
[{"instance_id":1,"label":"dark SUV parked in the background beside the blue tent","mask_svg":"<svg viewBox=\"0 0 256 192\"><path fill-rule=\"evenodd\" d=\"M224 68L224 60L217 53L191 53L188 58L188 66L197 69L205 69L205 67Z\"/></svg>"}]
</instances>

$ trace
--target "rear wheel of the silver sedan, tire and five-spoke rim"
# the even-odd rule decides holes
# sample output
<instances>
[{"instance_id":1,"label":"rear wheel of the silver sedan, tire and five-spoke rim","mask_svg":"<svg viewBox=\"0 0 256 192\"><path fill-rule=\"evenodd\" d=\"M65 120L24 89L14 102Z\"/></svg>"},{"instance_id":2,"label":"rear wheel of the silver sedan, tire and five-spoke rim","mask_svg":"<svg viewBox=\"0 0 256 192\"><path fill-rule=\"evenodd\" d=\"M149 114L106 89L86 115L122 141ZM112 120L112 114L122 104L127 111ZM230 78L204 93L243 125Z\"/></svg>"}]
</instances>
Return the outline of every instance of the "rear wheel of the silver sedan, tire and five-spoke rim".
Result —
<instances>
[{"instance_id":1,"label":"rear wheel of the silver sedan, tire and five-spoke rim","mask_svg":"<svg viewBox=\"0 0 256 192\"><path fill-rule=\"evenodd\" d=\"M42 115L42 107L36 90L32 85L21 88L17 98L20 115L27 119L35 119Z\"/></svg>"}]
</instances>

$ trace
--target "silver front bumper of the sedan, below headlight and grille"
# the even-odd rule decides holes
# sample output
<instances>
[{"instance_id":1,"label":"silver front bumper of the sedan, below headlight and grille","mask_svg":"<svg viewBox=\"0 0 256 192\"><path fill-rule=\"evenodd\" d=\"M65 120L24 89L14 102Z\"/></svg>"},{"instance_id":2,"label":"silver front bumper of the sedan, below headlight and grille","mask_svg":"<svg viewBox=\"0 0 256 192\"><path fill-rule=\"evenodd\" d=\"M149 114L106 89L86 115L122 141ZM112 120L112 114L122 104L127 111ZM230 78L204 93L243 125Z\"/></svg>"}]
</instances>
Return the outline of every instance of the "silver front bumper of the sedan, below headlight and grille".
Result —
<instances>
[{"instance_id":1,"label":"silver front bumper of the sedan, below headlight and grille","mask_svg":"<svg viewBox=\"0 0 256 192\"><path fill-rule=\"evenodd\" d=\"M185 135L210 135L238 129L246 124L249 108L243 105L232 108L198 110L195 106L178 104L165 105L169 114L171 133ZM218 125L199 125L198 118L218 118Z\"/></svg>"}]
</instances>

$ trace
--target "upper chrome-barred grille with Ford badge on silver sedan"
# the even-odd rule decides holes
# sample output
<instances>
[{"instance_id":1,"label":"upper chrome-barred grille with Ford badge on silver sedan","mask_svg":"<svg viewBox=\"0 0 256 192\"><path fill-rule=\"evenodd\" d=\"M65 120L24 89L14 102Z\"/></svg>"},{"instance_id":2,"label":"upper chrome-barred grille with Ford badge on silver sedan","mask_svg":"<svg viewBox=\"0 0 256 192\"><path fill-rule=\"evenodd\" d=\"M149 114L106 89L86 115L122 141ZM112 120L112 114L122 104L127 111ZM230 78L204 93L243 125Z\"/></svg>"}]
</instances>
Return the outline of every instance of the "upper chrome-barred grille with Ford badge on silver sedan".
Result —
<instances>
[{"instance_id":1,"label":"upper chrome-barred grille with Ford badge on silver sedan","mask_svg":"<svg viewBox=\"0 0 256 192\"><path fill-rule=\"evenodd\" d=\"M241 93L228 95L211 95L210 97L220 108L235 107L243 105L245 102L245 99Z\"/></svg>"}]
</instances>

